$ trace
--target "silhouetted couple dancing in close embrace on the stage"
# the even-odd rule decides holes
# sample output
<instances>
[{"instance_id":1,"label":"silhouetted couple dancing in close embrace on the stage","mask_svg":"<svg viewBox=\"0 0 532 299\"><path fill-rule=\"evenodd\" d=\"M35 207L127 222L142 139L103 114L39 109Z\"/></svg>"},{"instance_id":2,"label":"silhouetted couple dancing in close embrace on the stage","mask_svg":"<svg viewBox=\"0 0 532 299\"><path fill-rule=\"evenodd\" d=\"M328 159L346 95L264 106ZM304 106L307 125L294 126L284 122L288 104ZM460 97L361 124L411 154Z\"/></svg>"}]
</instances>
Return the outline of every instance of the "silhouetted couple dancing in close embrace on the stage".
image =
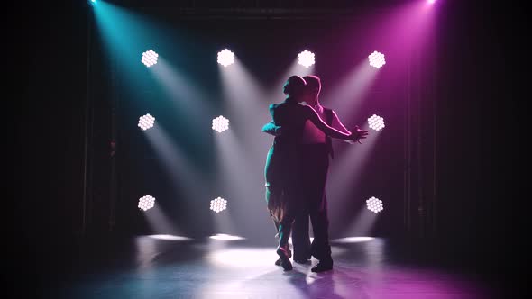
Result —
<instances>
[{"instance_id":1,"label":"silhouetted couple dancing in close embrace on the stage","mask_svg":"<svg viewBox=\"0 0 532 299\"><path fill-rule=\"evenodd\" d=\"M270 105L272 121L262 128L275 136L264 177L266 202L279 237L280 258L275 264L285 271L292 269L290 232L295 262L307 264L315 257L319 262L312 272L333 268L325 193L329 156L334 157L331 138L360 143L368 135L358 127L353 132L345 129L336 113L319 103L320 91L319 77L289 77L283 86L284 102Z\"/></svg>"}]
</instances>

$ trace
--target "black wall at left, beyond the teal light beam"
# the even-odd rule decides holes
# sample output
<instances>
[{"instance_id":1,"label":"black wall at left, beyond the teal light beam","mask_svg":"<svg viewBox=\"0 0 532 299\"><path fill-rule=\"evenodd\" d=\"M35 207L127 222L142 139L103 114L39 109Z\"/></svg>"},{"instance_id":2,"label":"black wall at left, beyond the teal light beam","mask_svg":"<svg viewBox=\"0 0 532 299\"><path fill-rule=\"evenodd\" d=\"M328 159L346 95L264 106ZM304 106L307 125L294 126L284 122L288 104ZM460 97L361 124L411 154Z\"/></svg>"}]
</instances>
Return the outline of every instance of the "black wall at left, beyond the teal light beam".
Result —
<instances>
[{"instance_id":1,"label":"black wall at left, beyond the teal light beam","mask_svg":"<svg viewBox=\"0 0 532 299\"><path fill-rule=\"evenodd\" d=\"M83 184L85 6L32 3L17 21L23 29L17 32L17 68L24 73L16 120L20 187L15 209L5 211L17 277L53 276L60 260L75 255Z\"/></svg>"}]
</instances>

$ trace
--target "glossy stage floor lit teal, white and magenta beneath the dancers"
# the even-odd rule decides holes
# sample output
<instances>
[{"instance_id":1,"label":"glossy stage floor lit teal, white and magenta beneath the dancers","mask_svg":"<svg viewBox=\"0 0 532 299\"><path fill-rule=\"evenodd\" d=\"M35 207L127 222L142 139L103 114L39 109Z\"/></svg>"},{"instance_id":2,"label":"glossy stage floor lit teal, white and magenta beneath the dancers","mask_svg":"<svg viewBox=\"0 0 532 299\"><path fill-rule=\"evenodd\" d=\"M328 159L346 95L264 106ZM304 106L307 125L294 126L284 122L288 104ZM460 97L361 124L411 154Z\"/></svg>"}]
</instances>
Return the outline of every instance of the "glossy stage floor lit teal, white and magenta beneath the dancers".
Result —
<instances>
[{"instance_id":1,"label":"glossy stage floor lit teal, white and magenta beneath the dancers","mask_svg":"<svg viewBox=\"0 0 532 299\"><path fill-rule=\"evenodd\" d=\"M169 240L170 239L170 240ZM248 240L142 236L80 256L71 275L50 285L53 298L494 298L479 276L399 261L382 239L332 241L332 271L316 264L274 265L274 247Z\"/></svg>"}]
</instances>

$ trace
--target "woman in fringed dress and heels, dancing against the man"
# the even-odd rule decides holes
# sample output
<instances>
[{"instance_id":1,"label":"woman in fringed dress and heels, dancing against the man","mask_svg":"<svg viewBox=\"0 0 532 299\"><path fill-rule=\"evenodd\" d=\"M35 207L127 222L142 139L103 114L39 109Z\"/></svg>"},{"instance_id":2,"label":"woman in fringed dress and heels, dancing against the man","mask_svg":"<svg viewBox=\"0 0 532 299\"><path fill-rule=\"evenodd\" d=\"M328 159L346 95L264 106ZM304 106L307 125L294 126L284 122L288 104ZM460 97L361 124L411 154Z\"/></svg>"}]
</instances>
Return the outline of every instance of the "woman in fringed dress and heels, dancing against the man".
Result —
<instances>
[{"instance_id":1,"label":"woman in fringed dress and heels, dancing against the man","mask_svg":"<svg viewBox=\"0 0 532 299\"><path fill-rule=\"evenodd\" d=\"M307 213L308 210L308 204L306 203L307 190L304 183L306 177L302 174L302 171L305 169L303 167L304 159L301 156L301 149L303 146L301 140L303 140L303 132L307 122L314 124L316 130L322 131L334 138L344 140L355 140L360 138L358 135L344 133L329 127L320 119L315 110L307 105L299 104L304 100L304 97L301 95L307 94L307 90L304 89L305 86L306 82L301 77L289 77L289 80L285 86L283 86L283 92L287 95L285 101L280 104L271 104L270 106L273 124L282 128L282 134L275 137L273 146L268 154L268 159L266 160L266 195L269 207L271 205L271 195L275 195L273 198L280 198L282 218L280 219L278 229L280 241L277 248L277 254L280 257L280 266L285 270L292 269L292 265L289 261L289 252L287 250L292 223L295 218L300 217L299 214ZM271 184L272 181L275 183ZM280 197L277 196L279 194L281 195ZM269 195L270 199L268 198ZM311 209L311 212L312 211L313 210ZM311 213L311 219L314 221L315 218L316 222L319 221L317 217L314 217L314 213ZM318 232L318 235L322 237L323 233ZM322 240L323 238L320 239L318 237L317 239ZM319 252L321 252L321 246L318 248ZM321 256L322 255L320 254L319 257ZM326 262L328 261L326 258L324 260Z\"/></svg>"}]
</instances>

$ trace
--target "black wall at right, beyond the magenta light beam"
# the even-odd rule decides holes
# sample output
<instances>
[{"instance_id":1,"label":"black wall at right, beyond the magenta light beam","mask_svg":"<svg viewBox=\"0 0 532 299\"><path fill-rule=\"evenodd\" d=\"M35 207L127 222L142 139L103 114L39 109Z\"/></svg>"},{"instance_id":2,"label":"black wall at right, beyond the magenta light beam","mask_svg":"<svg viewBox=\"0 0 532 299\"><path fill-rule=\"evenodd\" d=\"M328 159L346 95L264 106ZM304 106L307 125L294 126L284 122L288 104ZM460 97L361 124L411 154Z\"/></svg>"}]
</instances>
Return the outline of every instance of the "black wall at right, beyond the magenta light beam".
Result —
<instances>
[{"instance_id":1,"label":"black wall at right, beyond the magenta light beam","mask_svg":"<svg viewBox=\"0 0 532 299\"><path fill-rule=\"evenodd\" d=\"M524 19L515 6L441 5L437 243L456 261L512 272L527 201Z\"/></svg>"}]
</instances>

